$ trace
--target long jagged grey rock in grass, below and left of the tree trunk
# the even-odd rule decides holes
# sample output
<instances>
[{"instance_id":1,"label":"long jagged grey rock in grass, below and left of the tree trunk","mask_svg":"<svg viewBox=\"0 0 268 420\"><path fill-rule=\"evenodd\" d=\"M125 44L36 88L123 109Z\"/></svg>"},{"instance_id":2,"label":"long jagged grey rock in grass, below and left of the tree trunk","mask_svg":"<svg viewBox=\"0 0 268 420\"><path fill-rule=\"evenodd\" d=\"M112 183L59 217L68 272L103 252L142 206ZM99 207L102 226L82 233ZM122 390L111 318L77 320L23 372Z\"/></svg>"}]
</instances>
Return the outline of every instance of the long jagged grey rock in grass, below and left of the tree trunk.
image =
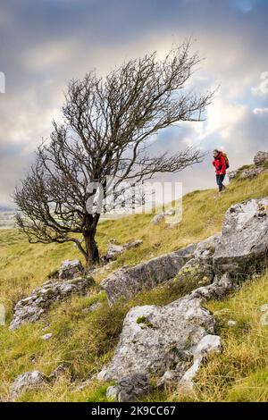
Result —
<instances>
[{"instance_id":1,"label":"long jagged grey rock in grass, below and left of the tree trunk","mask_svg":"<svg viewBox=\"0 0 268 420\"><path fill-rule=\"evenodd\" d=\"M17 303L14 307L10 329L15 330L22 323L38 321L55 301L68 298L71 294L83 295L93 285L94 281L91 277L79 277L66 281L46 281L40 288L33 290L29 298L23 298Z\"/></svg>"}]
</instances>

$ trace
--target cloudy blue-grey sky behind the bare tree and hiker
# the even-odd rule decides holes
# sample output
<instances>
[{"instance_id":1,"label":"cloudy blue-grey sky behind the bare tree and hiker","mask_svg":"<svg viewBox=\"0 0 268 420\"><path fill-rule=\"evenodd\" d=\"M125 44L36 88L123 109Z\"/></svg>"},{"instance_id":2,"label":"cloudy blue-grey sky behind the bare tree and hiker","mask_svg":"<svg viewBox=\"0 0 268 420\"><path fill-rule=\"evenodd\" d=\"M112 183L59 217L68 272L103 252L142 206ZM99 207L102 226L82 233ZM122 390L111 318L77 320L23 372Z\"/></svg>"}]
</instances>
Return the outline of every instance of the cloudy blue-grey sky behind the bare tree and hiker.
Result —
<instances>
[{"instance_id":1,"label":"cloudy blue-grey sky behind the bare tree and hiker","mask_svg":"<svg viewBox=\"0 0 268 420\"><path fill-rule=\"evenodd\" d=\"M232 169L250 163L268 144L267 21L267 0L0 0L0 204L60 119L68 80L189 37L205 58L193 87L219 88L205 122L164 130L155 151L221 147ZM213 187L211 156L172 180Z\"/></svg>"}]
</instances>

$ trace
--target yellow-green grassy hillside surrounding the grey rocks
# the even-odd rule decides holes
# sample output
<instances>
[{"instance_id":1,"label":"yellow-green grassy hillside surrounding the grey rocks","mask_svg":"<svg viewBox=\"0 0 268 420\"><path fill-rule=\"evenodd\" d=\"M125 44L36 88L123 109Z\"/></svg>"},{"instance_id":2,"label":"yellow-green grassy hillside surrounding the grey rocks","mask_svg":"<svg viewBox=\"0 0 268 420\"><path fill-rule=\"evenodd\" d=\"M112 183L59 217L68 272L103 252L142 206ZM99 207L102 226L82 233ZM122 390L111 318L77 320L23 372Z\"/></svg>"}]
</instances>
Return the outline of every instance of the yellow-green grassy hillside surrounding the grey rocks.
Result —
<instances>
[{"instance_id":1,"label":"yellow-green grassy hillside surrounding the grey rocks","mask_svg":"<svg viewBox=\"0 0 268 420\"><path fill-rule=\"evenodd\" d=\"M228 191L214 197L216 190L194 191L183 197L182 222L171 227L160 223L152 226L151 215L136 214L99 225L97 242L105 252L108 239L124 243L143 239L140 248L121 255L109 270L117 266L137 264L141 260L169 252L221 231L225 211L235 203L251 197L268 196L268 174L252 181L234 181ZM46 280L63 259L80 257L72 245L30 245L15 230L0 230L0 303L6 308L10 322L14 304ZM99 275L100 281L104 275ZM267 400L268 360L267 328L260 323L259 307L268 303L268 277L245 284L239 293L223 302L210 302L213 312L220 312L219 326L223 337L221 356L210 357L198 374L194 400ZM24 401L101 401L107 385L92 382L83 391L77 387L96 374L113 356L124 316L130 307L143 304L163 305L179 298L195 285L184 284L172 289L163 287L141 293L132 301L114 307L107 305L105 294L96 285L91 294L71 298L56 305L46 319L10 332L0 326L0 398L6 399L10 384L18 374L40 370L45 374L64 363L66 374L39 391L21 395ZM94 313L83 311L92 302L101 306ZM229 327L228 320L236 321ZM41 340L52 332L51 340ZM150 400L181 400L180 390L166 390L151 395ZM185 397L184 397L185 399Z\"/></svg>"}]
</instances>

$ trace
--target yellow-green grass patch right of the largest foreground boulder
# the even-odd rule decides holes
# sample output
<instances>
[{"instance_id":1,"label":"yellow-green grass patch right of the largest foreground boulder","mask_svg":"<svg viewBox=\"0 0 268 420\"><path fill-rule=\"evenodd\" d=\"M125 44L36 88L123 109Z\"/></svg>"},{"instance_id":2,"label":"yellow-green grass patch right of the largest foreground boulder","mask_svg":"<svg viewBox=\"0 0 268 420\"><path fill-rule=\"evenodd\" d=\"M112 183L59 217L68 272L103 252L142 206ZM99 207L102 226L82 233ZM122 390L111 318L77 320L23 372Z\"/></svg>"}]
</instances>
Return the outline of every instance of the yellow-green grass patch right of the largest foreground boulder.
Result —
<instances>
[{"instance_id":1,"label":"yellow-green grass patch right of the largest foreground boulder","mask_svg":"<svg viewBox=\"0 0 268 420\"><path fill-rule=\"evenodd\" d=\"M222 302L209 302L222 337L222 354L211 356L196 379L192 401L256 401L268 399L268 325L261 307L268 303L268 273L245 283ZM229 326L228 321L236 322ZM169 400L186 400L180 389Z\"/></svg>"}]
</instances>

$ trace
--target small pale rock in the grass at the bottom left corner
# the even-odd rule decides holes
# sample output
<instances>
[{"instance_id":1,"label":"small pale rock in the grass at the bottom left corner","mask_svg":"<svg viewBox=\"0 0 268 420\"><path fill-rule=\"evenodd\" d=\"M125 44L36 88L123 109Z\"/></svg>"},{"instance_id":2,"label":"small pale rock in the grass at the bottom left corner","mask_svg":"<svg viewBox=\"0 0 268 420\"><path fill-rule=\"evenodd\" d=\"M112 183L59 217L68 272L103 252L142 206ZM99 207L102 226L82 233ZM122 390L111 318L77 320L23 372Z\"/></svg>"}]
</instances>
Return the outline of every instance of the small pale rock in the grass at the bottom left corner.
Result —
<instances>
[{"instance_id":1,"label":"small pale rock in the grass at the bottom left corner","mask_svg":"<svg viewBox=\"0 0 268 420\"><path fill-rule=\"evenodd\" d=\"M10 397L11 399L18 398L22 392L29 391L33 388L38 388L46 383L46 377L39 371L26 372L20 374L13 382Z\"/></svg>"}]
</instances>

